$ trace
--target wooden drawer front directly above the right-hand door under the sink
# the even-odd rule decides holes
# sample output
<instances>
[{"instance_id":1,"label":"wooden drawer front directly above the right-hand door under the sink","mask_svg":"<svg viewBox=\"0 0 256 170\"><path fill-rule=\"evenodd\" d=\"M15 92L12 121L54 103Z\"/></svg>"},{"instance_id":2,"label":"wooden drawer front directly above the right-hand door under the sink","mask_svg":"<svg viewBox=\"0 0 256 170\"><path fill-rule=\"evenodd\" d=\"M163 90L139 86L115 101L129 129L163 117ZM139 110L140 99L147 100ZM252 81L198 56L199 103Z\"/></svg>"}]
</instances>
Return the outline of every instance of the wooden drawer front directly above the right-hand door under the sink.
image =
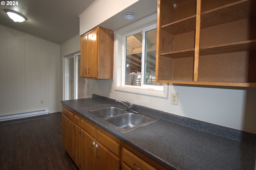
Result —
<instances>
[{"instance_id":1,"label":"wooden drawer front directly above the right-hand door under the sink","mask_svg":"<svg viewBox=\"0 0 256 170\"><path fill-rule=\"evenodd\" d=\"M108 150L116 154L118 158L120 158L120 143L115 141L114 139L111 138L112 135L108 133L102 133L101 131L97 130L96 131L96 138L97 141L102 143Z\"/></svg>"}]
</instances>

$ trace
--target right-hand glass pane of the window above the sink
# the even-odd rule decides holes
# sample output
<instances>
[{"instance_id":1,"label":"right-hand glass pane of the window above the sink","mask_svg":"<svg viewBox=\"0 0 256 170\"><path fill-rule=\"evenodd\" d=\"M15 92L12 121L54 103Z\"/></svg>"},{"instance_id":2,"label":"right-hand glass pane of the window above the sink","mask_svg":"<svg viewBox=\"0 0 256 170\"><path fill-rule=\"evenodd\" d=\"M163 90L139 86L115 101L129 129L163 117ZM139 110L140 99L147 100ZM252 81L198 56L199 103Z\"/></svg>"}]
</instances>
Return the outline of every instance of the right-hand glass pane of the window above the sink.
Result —
<instances>
[{"instance_id":1,"label":"right-hand glass pane of the window above the sink","mask_svg":"<svg viewBox=\"0 0 256 170\"><path fill-rule=\"evenodd\" d=\"M146 31L144 84L163 86L156 83L156 29Z\"/></svg>"}]
</instances>

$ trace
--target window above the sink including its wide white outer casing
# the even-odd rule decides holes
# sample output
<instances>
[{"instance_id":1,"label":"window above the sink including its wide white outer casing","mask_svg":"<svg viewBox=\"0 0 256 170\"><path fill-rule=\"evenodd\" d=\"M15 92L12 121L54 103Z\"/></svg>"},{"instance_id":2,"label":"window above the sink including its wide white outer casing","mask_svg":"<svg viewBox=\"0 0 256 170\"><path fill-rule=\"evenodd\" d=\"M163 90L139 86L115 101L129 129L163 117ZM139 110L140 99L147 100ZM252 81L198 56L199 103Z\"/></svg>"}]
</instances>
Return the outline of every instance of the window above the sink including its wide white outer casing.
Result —
<instances>
[{"instance_id":1,"label":"window above the sink including its wide white outer casing","mask_svg":"<svg viewBox=\"0 0 256 170\"><path fill-rule=\"evenodd\" d=\"M156 35L152 36L154 38L149 35L156 34L156 18L157 14L155 13L114 31L114 90L168 98L168 84L160 84L155 81ZM126 42L129 36L134 35L133 38L135 39L136 34L140 35L140 37L136 38L136 41L140 42L140 51L139 48L133 48L131 43ZM134 57L135 54L138 56L137 59ZM132 84L130 82L132 80L127 78L129 74L136 75L135 84Z\"/></svg>"}]
</instances>

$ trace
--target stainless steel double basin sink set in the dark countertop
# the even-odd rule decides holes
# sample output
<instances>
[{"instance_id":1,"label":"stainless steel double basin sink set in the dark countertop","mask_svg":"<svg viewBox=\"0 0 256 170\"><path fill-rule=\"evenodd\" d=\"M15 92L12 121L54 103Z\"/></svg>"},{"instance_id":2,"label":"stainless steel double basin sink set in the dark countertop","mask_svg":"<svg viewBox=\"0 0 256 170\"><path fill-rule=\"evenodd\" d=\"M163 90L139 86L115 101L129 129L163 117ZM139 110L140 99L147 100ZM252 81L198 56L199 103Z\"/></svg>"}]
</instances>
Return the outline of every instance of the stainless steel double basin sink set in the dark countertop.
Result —
<instances>
[{"instance_id":1,"label":"stainless steel double basin sink set in the dark countertop","mask_svg":"<svg viewBox=\"0 0 256 170\"><path fill-rule=\"evenodd\" d=\"M144 113L132 113L117 106L94 109L89 113L122 132L132 131L159 119Z\"/></svg>"}]
</instances>

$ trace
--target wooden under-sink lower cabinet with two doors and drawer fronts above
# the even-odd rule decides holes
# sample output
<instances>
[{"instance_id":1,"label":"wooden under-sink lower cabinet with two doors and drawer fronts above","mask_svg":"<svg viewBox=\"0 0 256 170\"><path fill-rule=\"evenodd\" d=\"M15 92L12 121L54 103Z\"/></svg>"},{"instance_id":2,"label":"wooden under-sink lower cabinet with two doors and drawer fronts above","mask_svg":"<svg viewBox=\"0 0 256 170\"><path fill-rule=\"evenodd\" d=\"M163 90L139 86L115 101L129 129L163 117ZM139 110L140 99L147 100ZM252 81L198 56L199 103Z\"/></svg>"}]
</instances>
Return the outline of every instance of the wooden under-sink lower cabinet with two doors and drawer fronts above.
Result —
<instances>
[{"instance_id":1,"label":"wooden under-sink lower cabinet with two doors and drawer fronts above","mask_svg":"<svg viewBox=\"0 0 256 170\"><path fill-rule=\"evenodd\" d=\"M80 131L80 170L120 170L120 144L116 145L116 141L109 138L108 132L84 119L81 120ZM98 141L97 137L106 140ZM111 150L112 146L119 148ZM117 155L115 150L119 150Z\"/></svg>"}]
</instances>

